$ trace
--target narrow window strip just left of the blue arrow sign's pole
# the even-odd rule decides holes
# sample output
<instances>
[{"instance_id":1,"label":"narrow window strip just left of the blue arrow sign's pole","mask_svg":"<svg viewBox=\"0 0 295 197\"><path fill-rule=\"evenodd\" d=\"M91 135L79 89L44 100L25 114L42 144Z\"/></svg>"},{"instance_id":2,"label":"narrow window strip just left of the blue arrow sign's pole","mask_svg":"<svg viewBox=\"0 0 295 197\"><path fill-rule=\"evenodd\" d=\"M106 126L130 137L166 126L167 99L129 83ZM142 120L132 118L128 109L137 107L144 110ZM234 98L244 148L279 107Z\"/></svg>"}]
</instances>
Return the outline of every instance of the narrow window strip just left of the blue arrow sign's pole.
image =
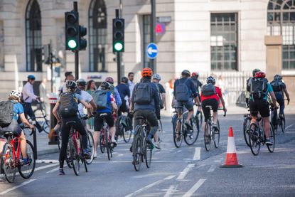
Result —
<instances>
[{"instance_id":1,"label":"narrow window strip just left of the blue arrow sign's pole","mask_svg":"<svg viewBox=\"0 0 295 197\"><path fill-rule=\"evenodd\" d=\"M142 16L142 21L142 57L144 58L144 68L151 68L151 66L149 66L150 60L146 55L146 46L148 46L151 41L151 15Z\"/></svg>"}]
</instances>

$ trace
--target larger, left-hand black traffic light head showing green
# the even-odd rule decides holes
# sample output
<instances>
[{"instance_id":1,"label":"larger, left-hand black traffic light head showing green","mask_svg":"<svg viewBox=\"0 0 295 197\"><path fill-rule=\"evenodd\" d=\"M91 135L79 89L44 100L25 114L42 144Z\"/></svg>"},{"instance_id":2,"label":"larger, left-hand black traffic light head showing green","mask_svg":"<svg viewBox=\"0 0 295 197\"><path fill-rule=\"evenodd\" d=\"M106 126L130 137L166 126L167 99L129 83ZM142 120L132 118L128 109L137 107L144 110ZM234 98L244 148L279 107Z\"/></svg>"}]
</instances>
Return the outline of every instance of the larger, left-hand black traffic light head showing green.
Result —
<instances>
[{"instance_id":1,"label":"larger, left-hand black traffic light head showing green","mask_svg":"<svg viewBox=\"0 0 295 197\"><path fill-rule=\"evenodd\" d=\"M77 11L65 12L65 50L79 49L79 14Z\"/></svg>"}]
</instances>

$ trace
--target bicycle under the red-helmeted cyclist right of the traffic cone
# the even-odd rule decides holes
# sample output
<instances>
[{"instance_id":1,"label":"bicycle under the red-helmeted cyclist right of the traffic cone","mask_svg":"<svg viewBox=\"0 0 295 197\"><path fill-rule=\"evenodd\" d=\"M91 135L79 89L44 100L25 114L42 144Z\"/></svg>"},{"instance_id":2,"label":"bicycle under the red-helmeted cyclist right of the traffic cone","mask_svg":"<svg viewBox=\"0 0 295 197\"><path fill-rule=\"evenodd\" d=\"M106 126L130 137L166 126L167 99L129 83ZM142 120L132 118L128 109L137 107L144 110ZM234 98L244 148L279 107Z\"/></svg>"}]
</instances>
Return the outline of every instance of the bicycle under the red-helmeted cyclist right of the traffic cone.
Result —
<instances>
[{"instance_id":1,"label":"bicycle under the red-helmeted cyclist right of the traffic cone","mask_svg":"<svg viewBox=\"0 0 295 197\"><path fill-rule=\"evenodd\" d=\"M259 123L261 122L261 124ZM267 149L269 149L269 152L274 152L274 146L275 146L275 135L274 135L274 128L272 126L272 122L269 122L270 124L270 134L269 139L272 144L271 146L267 145ZM257 156L260 151L260 147L265 144L265 136L264 136L264 122L262 120L262 117L257 118L257 122L254 122L250 124L249 127L249 142L250 142L250 149L252 151L252 154Z\"/></svg>"}]
</instances>

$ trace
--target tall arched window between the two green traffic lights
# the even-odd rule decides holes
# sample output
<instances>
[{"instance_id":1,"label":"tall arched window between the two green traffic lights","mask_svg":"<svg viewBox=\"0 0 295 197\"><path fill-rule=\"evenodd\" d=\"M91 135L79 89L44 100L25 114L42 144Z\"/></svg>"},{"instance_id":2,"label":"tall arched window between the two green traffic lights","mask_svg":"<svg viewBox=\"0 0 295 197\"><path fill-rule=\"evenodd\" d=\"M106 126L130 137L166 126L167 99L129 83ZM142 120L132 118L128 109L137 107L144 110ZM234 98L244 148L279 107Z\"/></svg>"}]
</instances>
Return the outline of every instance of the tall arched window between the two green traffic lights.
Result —
<instances>
[{"instance_id":1,"label":"tall arched window between the two green traffic lights","mask_svg":"<svg viewBox=\"0 0 295 197\"><path fill-rule=\"evenodd\" d=\"M91 72L107 72L107 8L103 0L92 0L89 8L89 63Z\"/></svg>"}]
</instances>

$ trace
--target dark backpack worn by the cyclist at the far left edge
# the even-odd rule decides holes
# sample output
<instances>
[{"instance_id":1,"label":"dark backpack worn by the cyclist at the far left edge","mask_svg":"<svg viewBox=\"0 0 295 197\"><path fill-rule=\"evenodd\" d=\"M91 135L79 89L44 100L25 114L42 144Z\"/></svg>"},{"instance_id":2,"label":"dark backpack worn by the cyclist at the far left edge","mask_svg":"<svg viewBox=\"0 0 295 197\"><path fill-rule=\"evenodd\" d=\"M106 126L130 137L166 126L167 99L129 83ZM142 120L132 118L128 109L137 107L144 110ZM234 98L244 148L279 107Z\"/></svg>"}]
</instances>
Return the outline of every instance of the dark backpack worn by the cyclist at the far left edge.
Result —
<instances>
[{"instance_id":1,"label":"dark backpack worn by the cyclist at the far left edge","mask_svg":"<svg viewBox=\"0 0 295 197\"><path fill-rule=\"evenodd\" d=\"M8 127L14 116L14 103L10 100L0 102L0 127Z\"/></svg>"}]
</instances>

